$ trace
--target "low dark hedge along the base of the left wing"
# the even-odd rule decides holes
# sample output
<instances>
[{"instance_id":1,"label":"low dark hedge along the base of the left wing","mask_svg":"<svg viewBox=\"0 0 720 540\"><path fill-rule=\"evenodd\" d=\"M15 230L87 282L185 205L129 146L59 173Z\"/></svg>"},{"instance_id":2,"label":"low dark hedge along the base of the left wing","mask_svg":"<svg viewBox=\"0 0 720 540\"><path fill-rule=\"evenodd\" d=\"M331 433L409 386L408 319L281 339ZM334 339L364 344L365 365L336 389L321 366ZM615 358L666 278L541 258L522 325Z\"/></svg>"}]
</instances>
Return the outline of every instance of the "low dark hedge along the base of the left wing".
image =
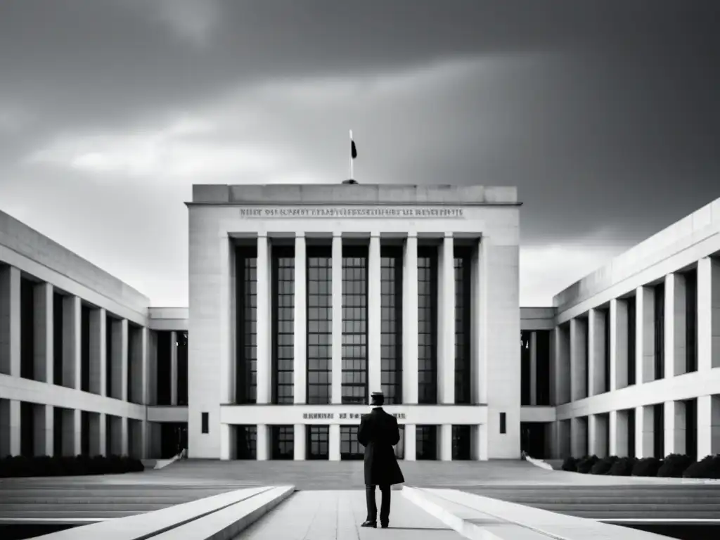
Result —
<instances>
[{"instance_id":1,"label":"low dark hedge along the base of the left wing","mask_svg":"<svg viewBox=\"0 0 720 540\"><path fill-rule=\"evenodd\" d=\"M127 456L7 456L0 459L0 478L122 474L145 470L139 459Z\"/></svg>"}]
</instances>

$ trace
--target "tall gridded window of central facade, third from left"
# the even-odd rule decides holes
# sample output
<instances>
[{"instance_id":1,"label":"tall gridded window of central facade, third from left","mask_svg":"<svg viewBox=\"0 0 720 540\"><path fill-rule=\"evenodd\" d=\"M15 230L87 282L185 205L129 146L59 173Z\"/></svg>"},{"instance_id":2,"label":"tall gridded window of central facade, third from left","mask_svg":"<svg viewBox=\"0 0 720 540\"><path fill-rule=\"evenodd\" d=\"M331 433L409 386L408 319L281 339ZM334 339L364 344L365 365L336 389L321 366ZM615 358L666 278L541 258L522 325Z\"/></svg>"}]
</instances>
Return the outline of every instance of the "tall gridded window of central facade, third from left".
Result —
<instances>
[{"instance_id":1,"label":"tall gridded window of central facade, third from left","mask_svg":"<svg viewBox=\"0 0 720 540\"><path fill-rule=\"evenodd\" d=\"M307 402L330 403L333 363L333 256L307 248ZM309 448L309 447L308 447ZM315 458L312 458L315 459ZM325 459L325 458L323 458Z\"/></svg>"}]
</instances>

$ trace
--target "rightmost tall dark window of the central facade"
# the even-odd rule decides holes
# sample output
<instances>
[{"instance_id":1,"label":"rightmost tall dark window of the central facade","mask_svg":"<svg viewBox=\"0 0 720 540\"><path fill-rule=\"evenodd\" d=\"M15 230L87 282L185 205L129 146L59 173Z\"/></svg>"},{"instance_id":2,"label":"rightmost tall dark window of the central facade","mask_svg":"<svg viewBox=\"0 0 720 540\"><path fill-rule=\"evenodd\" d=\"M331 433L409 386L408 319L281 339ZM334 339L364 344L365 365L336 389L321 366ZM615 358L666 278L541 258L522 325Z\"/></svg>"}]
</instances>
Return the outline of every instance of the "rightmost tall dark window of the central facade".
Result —
<instances>
[{"instance_id":1,"label":"rightmost tall dark window of the central facade","mask_svg":"<svg viewBox=\"0 0 720 540\"><path fill-rule=\"evenodd\" d=\"M455 402L470 402L470 306L472 252L467 247L456 247L455 271Z\"/></svg>"}]
</instances>

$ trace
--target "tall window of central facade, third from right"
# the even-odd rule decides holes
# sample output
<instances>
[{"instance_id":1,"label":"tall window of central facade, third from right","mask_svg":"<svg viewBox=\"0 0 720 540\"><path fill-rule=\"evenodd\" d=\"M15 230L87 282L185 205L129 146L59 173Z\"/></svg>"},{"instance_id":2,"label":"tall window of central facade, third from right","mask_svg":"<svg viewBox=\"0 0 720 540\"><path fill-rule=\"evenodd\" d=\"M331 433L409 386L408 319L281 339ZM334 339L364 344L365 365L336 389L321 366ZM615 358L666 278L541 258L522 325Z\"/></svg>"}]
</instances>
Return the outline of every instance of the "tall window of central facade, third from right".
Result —
<instances>
[{"instance_id":1,"label":"tall window of central facade, third from right","mask_svg":"<svg viewBox=\"0 0 720 540\"><path fill-rule=\"evenodd\" d=\"M402 403L402 248L380 252L380 377L387 405Z\"/></svg>"}]
</instances>

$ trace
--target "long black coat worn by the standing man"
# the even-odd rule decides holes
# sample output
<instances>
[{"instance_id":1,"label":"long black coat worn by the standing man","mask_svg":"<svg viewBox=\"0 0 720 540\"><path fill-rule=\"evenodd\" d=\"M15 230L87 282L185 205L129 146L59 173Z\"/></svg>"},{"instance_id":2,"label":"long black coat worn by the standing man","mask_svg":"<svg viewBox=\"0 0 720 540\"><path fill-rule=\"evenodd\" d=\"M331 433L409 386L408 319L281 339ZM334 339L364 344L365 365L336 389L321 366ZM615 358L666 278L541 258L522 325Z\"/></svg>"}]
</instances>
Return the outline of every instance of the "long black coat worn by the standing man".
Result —
<instances>
[{"instance_id":1,"label":"long black coat worn by the standing man","mask_svg":"<svg viewBox=\"0 0 720 540\"><path fill-rule=\"evenodd\" d=\"M405 478L392 449L400 441L395 416L382 407L362 415L358 442L365 447L365 485L402 484Z\"/></svg>"}]
</instances>

